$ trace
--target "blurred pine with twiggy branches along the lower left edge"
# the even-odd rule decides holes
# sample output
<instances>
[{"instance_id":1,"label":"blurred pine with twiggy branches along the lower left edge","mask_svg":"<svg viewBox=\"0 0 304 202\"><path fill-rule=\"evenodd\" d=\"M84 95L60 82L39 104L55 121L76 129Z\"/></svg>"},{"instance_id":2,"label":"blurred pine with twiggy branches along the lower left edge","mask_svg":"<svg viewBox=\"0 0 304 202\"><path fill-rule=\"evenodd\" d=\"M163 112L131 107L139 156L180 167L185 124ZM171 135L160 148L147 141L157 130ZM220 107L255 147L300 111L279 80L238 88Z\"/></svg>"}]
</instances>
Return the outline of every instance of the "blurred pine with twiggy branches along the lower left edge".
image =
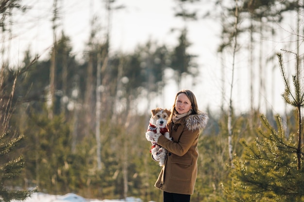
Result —
<instances>
[{"instance_id":1,"label":"blurred pine with twiggy branches along the lower left edge","mask_svg":"<svg viewBox=\"0 0 304 202\"><path fill-rule=\"evenodd\" d=\"M10 73L7 68L0 68L0 202L25 200L32 193L10 188L12 180L19 176L24 167L22 156L15 149L23 135L12 132L13 127L9 124L14 109L13 97L18 75L12 77Z\"/></svg>"}]
</instances>

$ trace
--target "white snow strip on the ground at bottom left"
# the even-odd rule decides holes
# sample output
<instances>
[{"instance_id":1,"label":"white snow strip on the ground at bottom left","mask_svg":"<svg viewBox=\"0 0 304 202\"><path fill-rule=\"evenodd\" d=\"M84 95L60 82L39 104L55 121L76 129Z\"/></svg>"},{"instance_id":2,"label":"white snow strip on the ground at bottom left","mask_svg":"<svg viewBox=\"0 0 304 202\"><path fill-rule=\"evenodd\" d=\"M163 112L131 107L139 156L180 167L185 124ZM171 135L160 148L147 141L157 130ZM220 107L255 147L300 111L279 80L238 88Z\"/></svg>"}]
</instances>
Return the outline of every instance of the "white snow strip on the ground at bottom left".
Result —
<instances>
[{"instance_id":1,"label":"white snow strip on the ground at bottom left","mask_svg":"<svg viewBox=\"0 0 304 202\"><path fill-rule=\"evenodd\" d=\"M12 201L19 202L19 201ZM31 198L27 198L23 202L142 202L141 199L128 197L126 200L96 200L85 199L77 194L68 193L66 195L50 195L45 193L33 193Z\"/></svg>"}]
</instances>

